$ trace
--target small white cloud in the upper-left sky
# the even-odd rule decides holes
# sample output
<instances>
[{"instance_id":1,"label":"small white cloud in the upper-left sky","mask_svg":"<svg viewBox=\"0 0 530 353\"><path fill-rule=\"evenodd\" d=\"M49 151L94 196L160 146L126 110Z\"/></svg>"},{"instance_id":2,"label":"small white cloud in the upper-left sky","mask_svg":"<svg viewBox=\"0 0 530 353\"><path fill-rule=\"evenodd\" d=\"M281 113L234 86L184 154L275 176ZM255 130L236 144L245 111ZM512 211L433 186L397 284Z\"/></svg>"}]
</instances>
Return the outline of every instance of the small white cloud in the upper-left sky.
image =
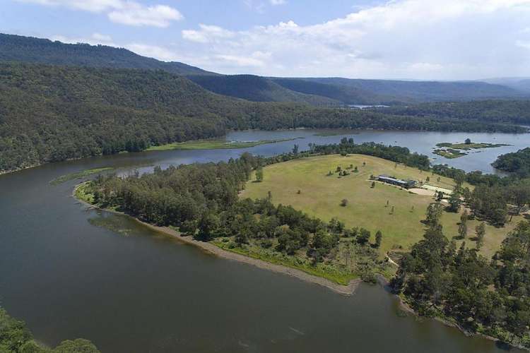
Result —
<instances>
[{"instance_id":1,"label":"small white cloud in the upper-left sky","mask_svg":"<svg viewBox=\"0 0 530 353\"><path fill-rule=\"evenodd\" d=\"M167 27L171 21L181 20L176 8L165 5L143 6L130 0L16 0L45 6L65 6L73 10L106 13L114 23L134 26Z\"/></svg>"}]
</instances>

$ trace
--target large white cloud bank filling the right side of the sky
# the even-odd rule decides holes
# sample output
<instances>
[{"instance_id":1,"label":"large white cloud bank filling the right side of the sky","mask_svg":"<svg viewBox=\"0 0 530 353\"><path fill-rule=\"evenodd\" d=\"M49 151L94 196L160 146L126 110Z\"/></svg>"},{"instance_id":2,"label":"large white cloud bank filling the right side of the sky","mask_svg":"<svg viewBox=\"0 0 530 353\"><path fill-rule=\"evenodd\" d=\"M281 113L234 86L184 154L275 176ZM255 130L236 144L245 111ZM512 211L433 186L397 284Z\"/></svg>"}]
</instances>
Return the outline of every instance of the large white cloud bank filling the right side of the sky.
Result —
<instances>
[{"instance_id":1,"label":"large white cloud bank filling the right side of the sky","mask_svg":"<svg viewBox=\"0 0 530 353\"><path fill-rule=\"evenodd\" d=\"M530 0L393 0L315 25L285 20L240 31L199 25L182 31L182 38L190 51L209 56L206 69L223 73L528 76L529 18Z\"/></svg>"}]
</instances>

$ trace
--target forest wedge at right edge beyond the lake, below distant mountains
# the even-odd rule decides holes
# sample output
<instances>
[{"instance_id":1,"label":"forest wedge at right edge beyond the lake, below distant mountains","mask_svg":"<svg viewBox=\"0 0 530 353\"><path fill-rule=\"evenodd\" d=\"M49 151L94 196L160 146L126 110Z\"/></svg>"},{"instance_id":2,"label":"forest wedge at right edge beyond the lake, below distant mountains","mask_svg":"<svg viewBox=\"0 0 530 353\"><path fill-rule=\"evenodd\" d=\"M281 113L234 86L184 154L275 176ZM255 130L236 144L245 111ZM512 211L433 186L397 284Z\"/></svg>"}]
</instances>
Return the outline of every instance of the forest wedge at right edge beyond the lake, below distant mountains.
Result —
<instances>
[{"instance_id":1,"label":"forest wedge at right edge beyond the lake, below distant mountains","mask_svg":"<svg viewBox=\"0 0 530 353\"><path fill-rule=\"evenodd\" d=\"M492 123L530 124L529 100L474 100L395 106L379 109L389 114L477 120Z\"/></svg>"}]
</instances>

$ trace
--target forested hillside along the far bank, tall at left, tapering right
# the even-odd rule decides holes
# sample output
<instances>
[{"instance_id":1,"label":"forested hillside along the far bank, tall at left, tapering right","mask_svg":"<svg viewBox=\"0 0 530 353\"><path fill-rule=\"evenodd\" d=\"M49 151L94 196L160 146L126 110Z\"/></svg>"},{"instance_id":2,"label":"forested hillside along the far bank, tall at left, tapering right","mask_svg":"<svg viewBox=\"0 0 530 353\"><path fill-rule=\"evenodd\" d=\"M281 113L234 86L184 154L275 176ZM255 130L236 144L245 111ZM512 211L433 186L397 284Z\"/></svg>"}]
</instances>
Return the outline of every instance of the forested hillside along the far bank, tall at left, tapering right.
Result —
<instances>
[{"instance_id":1,"label":"forested hillside along the far bank, tall at left, tapering right","mask_svg":"<svg viewBox=\"0 0 530 353\"><path fill-rule=\"evenodd\" d=\"M502 131L505 124L248 102L165 71L0 64L0 172L223 136L228 129Z\"/></svg>"}]
</instances>

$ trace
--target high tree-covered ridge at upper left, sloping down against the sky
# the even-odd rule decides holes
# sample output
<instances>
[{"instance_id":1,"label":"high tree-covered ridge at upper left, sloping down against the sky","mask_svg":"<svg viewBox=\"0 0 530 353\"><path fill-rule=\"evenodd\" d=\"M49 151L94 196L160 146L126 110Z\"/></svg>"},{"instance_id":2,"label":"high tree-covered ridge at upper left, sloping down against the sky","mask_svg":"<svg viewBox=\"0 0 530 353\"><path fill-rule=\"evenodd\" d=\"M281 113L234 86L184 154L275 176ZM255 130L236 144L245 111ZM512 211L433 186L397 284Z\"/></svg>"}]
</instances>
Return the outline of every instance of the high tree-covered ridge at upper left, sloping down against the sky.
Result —
<instances>
[{"instance_id":1,"label":"high tree-covered ridge at upper left, sloping down against the sky","mask_svg":"<svg viewBox=\"0 0 530 353\"><path fill-rule=\"evenodd\" d=\"M105 68L164 70L177 75L216 75L179 62L148 58L124 48L106 45L65 44L35 37L0 33L0 61Z\"/></svg>"}]
</instances>

